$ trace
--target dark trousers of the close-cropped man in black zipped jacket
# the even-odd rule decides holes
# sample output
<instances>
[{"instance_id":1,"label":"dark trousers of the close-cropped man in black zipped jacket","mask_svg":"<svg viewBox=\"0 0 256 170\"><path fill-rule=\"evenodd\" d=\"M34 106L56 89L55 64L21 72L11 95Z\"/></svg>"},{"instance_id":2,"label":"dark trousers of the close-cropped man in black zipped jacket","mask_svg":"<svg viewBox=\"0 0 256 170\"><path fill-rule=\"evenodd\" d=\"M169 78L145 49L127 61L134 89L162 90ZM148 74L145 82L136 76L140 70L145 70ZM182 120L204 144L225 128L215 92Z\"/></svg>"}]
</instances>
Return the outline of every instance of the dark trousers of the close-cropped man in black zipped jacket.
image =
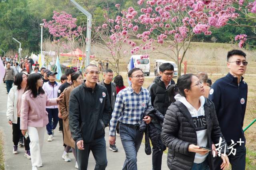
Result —
<instances>
[{"instance_id":1,"label":"dark trousers of the close-cropped man in black zipped jacket","mask_svg":"<svg viewBox=\"0 0 256 170\"><path fill-rule=\"evenodd\" d=\"M84 143L84 150L79 150L76 146L78 170L87 170L90 151L92 151L96 162L94 170L105 170L108 160L106 154L106 141L104 137L94 139L92 143Z\"/></svg>"}]
</instances>

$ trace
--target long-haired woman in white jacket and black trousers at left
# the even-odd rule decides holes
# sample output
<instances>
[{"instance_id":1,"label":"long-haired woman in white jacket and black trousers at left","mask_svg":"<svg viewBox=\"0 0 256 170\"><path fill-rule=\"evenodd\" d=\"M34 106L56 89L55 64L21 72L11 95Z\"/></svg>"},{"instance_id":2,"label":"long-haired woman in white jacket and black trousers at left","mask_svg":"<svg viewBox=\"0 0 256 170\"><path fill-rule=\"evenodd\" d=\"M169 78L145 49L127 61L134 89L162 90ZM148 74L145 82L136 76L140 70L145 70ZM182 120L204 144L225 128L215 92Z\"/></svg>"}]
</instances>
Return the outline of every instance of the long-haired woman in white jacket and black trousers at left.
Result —
<instances>
[{"instance_id":1,"label":"long-haired woman in white jacket and black trousers at left","mask_svg":"<svg viewBox=\"0 0 256 170\"><path fill-rule=\"evenodd\" d=\"M12 141L13 141L13 154L18 154L18 142L20 140L21 130L20 130L20 109L22 102L22 94L27 85L27 75L23 72L16 74L14 78L14 86L10 89L7 102L7 112L6 116L8 123L12 125ZM30 139L29 137L24 138L25 154L24 156L31 159L30 156Z\"/></svg>"}]
</instances>

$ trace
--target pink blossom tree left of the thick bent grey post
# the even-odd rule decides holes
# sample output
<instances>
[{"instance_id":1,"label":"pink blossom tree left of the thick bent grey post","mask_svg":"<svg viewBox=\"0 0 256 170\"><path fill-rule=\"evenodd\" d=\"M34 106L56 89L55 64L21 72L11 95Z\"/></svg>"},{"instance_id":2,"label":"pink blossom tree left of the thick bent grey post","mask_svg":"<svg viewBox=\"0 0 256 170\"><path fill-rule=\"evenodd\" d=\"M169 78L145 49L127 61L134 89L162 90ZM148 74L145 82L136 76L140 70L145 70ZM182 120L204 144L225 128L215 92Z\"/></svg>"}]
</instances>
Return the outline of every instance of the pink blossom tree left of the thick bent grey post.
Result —
<instances>
[{"instance_id":1,"label":"pink blossom tree left of the thick bent grey post","mask_svg":"<svg viewBox=\"0 0 256 170\"><path fill-rule=\"evenodd\" d=\"M86 27L77 26L76 18L73 18L71 14L66 12L56 12L53 11L53 17L51 21L44 21L44 27L49 29L49 33L53 36L53 43L57 45L57 54L60 54L60 47L63 46L65 49L71 49L71 55L74 51L74 43L81 36L83 36L83 31L86 30ZM71 47L64 45L63 41L68 41ZM72 57L71 61L72 62ZM70 63L71 64L71 63Z\"/></svg>"}]
</instances>

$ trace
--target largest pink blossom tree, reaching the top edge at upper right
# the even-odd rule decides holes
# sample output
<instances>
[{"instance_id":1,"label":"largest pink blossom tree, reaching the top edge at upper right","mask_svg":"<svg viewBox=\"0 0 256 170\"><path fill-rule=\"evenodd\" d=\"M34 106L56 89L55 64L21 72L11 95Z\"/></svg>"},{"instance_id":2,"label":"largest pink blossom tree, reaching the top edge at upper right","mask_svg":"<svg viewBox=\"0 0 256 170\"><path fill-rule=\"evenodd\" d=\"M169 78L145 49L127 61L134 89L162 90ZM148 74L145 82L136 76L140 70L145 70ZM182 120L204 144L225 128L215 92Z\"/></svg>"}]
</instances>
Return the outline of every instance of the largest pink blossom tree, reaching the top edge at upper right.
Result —
<instances>
[{"instance_id":1,"label":"largest pink blossom tree, reaching the top edge at upper right","mask_svg":"<svg viewBox=\"0 0 256 170\"><path fill-rule=\"evenodd\" d=\"M218 2L218 3L217 3ZM238 14L232 8L232 1L210 0L138 0L141 8L137 18L132 7L125 12L126 18L138 23L145 31L137 34L144 41L139 48L151 47L155 53L168 56L178 64L178 76L181 74L181 64L191 39L196 34L210 35L211 28L220 28L229 19L235 19ZM156 43L153 43L156 42ZM168 50L161 51L162 45L168 45ZM145 47L146 46L146 47ZM180 57L179 57L180 56Z\"/></svg>"}]
</instances>

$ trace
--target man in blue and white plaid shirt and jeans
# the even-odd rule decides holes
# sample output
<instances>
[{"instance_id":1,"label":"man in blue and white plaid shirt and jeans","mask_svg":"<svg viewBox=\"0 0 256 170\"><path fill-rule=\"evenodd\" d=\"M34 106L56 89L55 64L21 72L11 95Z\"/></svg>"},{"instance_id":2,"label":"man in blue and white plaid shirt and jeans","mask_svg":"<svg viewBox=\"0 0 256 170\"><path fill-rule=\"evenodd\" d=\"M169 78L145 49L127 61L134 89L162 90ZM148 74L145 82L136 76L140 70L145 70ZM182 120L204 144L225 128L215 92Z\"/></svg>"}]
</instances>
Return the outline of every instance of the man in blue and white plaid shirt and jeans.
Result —
<instances>
[{"instance_id":1,"label":"man in blue and white plaid shirt and jeans","mask_svg":"<svg viewBox=\"0 0 256 170\"><path fill-rule=\"evenodd\" d=\"M119 132L126 154L123 170L137 170L137 152L143 138L139 131L140 122L150 123L151 117L145 116L144 111L152 107L150 93L143 88L144 73L140 68L133 68L128 72L131 86L121 90L116 96L116 103L110 120L109 143L115 144L115 130L120 121Z\"/></svg>"}]
</instances>

